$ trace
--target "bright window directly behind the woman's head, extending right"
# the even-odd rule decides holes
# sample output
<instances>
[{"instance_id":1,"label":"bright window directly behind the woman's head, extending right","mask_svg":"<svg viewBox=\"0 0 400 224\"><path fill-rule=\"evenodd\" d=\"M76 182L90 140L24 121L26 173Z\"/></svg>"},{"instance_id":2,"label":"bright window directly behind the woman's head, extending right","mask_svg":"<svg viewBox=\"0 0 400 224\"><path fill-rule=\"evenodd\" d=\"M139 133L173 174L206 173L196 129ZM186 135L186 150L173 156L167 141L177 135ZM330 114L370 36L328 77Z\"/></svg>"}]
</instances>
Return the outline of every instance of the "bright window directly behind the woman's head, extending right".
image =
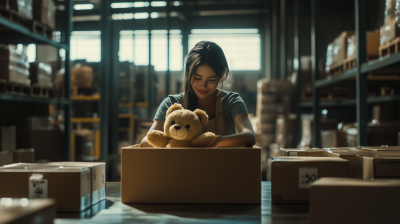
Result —
<instances>
[{"instance_id":1,"label":"bright window directly behind the woman's head, extending right","mask_svg":"<svg viewBox=\"0 0 400 224\"><path fill-rule=\"evenodd\" d=\"M189 35L189 50L202 40L213 41L222 48L231 71L260 70L258 29L194 29Z\"/></svg>"}]
</instances>

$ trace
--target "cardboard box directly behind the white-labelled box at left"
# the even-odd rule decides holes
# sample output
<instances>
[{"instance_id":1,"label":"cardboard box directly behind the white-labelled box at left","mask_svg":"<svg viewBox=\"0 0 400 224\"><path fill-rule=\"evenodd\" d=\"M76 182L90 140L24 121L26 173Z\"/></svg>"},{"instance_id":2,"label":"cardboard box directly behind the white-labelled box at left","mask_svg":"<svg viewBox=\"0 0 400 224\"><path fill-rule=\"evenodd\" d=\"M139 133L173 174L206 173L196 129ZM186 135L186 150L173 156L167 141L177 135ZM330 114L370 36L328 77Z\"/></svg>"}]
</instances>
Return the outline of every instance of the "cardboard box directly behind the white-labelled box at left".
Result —
<instances>
[{"instance_id":1,"label":"cardboard box directly behind the white-labelled box at left","mask_svg":"<svg viewBox=\"0 0 400 224\"><path fill-rule=\"evenodd\" d=\"M98 162L55 162L48 165L88 167L91 175L91 204L106 199L106 164Z\"/></svg>"}]
</instances>

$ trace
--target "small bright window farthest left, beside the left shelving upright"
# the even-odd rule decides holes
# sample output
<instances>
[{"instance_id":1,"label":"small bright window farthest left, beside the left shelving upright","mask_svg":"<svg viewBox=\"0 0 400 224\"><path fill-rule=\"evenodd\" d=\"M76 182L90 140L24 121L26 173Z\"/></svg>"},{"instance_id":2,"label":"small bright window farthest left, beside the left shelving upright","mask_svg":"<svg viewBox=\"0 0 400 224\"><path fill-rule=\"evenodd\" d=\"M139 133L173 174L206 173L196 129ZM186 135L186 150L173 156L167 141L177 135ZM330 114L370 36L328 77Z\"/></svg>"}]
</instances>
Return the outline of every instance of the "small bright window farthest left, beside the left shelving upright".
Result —
<instances>
[{"instance_id":1,"label":"small bright window farthest left, beside the left shelving upright","mask_svg":"<svg viewBox=\"0 0 400 224\"><path fill-rule=\"evenodd\" d=\"M86 59L99 62L101 59L100 31L73 31L71 35L71 60Z\"/></svg>"}]
</instances>

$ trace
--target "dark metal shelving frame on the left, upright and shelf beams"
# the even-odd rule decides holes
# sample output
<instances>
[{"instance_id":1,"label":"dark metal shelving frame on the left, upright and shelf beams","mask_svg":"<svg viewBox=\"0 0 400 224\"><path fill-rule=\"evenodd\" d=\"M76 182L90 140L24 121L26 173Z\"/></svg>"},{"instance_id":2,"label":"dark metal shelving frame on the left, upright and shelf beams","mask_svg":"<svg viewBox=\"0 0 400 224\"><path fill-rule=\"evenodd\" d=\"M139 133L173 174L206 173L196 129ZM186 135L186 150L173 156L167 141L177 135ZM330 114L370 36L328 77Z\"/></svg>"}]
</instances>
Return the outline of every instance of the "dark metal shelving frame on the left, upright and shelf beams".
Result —
<instances>
[{"instance_id":1,"label":"dark metal shelving frame on the left, upright and shelf beams","mask_svg":"<svg viewBox=\"0 0 400 224\"><path fill-rule=\"evenodd\" d=\"M64 20L61 25L61 42L56 42L40 34L34 33L28 28L14 23L6 18L0 17L0 26L3 27L0 32L1 44L44 44L50 45L58 50L65 50L65 75L64 75L64 96L63 98L39 98L32 96L12 95L0 93L0 103L17 104L55 104L64 109L64 145L63 158L70 160L70 133L71 133L71 84L70 84L70 36L72 31L72 1L63 1ZM60 12L60 11L57 11ZM61 147L61 146L60 146Z\"/></svg>"}]
</instances>

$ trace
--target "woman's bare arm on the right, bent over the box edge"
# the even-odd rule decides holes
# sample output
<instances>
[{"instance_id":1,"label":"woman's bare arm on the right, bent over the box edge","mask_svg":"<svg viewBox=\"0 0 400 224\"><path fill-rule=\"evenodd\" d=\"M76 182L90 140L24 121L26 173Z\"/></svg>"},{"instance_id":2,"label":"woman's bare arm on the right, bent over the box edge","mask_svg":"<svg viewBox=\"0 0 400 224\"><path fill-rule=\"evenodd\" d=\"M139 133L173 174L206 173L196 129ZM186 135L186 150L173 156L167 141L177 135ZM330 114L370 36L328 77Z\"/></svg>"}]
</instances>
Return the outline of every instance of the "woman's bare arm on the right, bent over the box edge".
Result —
<instances>
[{"instance_id":1,"label":"woman's bare arm on the right, bent over the box edge","mask_svg":"<svg viewBox=\"0 0 400 224\"><path fill-rule=\"evenodd\" d=\"M247 114L242 113L235 117L238 134L217 136L212 147L245 147L256 143L256 136Z\"/></svg>"}]
</instances>

